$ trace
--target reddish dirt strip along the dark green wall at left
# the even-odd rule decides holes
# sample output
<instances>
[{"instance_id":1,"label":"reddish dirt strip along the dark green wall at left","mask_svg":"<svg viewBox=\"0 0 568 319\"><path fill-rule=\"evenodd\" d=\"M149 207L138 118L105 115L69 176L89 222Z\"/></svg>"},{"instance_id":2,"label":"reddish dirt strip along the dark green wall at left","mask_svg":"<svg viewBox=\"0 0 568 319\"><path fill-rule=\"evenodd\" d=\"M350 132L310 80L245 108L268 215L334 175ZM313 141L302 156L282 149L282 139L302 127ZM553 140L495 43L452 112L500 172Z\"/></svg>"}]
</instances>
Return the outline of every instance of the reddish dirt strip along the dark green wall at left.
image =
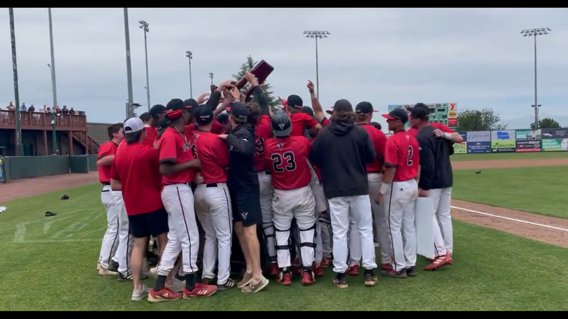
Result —
<instances>
[{"instance_id":1,"label":"reddish dirt strip along the dark green wall at left","mask_svg":"<svg viewBox=\"0 0 568 319\"><path fill-rule=\"evenodd\" d=\"M7 200L37 195L45 192L61 190L95 183L99 180L97 171L89 174L63 174L36 178L14 179L2 185L0 203Z\"/></svg>"}]
</instances>

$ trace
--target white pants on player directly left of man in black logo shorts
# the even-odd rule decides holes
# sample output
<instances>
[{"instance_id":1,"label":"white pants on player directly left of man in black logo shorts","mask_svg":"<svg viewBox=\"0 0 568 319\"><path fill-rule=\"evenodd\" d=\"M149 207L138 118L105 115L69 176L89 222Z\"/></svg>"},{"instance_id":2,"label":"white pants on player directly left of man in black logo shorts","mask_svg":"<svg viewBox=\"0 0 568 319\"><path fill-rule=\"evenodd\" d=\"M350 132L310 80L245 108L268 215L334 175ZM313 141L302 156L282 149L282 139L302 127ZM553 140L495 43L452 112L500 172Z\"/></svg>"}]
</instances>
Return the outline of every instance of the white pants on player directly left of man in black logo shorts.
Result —
<instances>
[{"instance_id":1,"label":"white pants on player directly left of man in black logo shorts","mask_svg":"<svg viewBox=\"0 0 568 319\"><path fill-rule=\"evenodd\" d=\"M217 284L224 284L231 274L233 213L229 189L225 183L199 184L194 195L195 212L205 231L202 277L215 278L218 261Z\"/></svg>"}]
</instances>

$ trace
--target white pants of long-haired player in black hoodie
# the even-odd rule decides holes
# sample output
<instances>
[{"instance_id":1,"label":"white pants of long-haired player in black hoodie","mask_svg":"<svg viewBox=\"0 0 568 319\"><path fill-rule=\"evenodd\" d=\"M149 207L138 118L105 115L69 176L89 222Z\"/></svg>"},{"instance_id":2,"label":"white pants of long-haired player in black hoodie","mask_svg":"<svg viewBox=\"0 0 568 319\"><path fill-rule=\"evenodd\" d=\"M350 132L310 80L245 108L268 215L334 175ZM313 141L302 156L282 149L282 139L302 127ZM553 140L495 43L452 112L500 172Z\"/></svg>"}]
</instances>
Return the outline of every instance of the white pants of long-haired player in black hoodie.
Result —
<instances>
[{"instance_id":1,"label":"white pants of long-haired player in black hoodie","mask_svg":"<svg viewBox=\"0 0 568 319\"><path fill-rule=\"evenodd\" d=\"M334 197L328 199L328 203L333 230L333 271L343 273L348 267L349 215L357 223L357 232L361 242L362 266L365 269L376 268L373 217L371 217L369 195ZM352 212L352 214L349 212Z\"/></svg>"}]
</instances>

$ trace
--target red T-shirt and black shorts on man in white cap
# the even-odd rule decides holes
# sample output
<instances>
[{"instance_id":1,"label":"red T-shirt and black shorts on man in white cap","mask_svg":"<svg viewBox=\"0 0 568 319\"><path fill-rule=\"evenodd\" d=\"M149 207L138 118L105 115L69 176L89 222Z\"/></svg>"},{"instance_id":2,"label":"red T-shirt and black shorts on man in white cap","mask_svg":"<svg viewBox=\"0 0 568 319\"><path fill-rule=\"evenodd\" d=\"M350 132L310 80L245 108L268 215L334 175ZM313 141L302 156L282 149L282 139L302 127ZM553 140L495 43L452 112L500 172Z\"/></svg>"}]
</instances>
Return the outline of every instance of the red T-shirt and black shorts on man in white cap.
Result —
<instances>
[{"instance_id":1,"label":"red T-shirt and black shorts on man in white cap","mask_svg":"<svg viewBox=\"0 0 568 319\"><path fill-rule=\"evenodd\" d=\"M168 213L160 196L158 150L140 142L120 145L111 178L122 185L128 232L135 238L168 232Z\"/></svg>"}]
</instances>

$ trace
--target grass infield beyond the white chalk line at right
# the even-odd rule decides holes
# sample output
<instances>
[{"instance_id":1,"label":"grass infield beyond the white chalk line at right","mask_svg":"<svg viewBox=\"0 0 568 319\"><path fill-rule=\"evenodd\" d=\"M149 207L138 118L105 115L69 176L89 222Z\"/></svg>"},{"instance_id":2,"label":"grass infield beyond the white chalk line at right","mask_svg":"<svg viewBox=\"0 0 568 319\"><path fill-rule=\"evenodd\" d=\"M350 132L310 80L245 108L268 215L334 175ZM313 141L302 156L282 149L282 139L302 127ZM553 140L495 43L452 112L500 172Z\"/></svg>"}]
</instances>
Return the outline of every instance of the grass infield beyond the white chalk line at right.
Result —
<instances>
[{"instance_id":1,"label":"grass infield beyond the white chalk line at right","mask_svg":"<svg viewBox=\"0 0 568 319\"><path fill-rule=\"evenodd\" d=\"M454 170L452 198L568 218L568 166Z\"/></svg>"}]
</instances>

